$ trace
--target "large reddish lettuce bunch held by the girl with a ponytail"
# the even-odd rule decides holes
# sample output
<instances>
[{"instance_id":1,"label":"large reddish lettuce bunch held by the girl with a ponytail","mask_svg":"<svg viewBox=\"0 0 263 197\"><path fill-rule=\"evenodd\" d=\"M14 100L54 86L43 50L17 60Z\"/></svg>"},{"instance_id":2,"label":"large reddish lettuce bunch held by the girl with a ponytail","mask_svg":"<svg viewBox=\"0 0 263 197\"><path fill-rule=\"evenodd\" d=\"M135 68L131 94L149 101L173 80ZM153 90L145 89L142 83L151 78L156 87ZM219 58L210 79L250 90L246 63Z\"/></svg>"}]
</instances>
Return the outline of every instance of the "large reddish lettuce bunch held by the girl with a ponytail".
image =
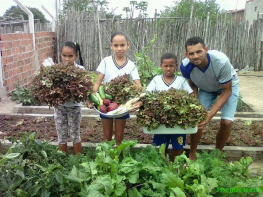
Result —
<instances>
[{"instance_id":1,"label":"large reddish lettuce bunch held by the girl with a ponytail","mask_svg":"<svg viewBox=\"0 0 263 197\"><path fill-rule=\"evenodd\" d=\"M57 106L68 101L83 102L92 92L93 83L86 70L75 65L43 67L31 82L34 100Z\"/></svg>"}]
</instances>

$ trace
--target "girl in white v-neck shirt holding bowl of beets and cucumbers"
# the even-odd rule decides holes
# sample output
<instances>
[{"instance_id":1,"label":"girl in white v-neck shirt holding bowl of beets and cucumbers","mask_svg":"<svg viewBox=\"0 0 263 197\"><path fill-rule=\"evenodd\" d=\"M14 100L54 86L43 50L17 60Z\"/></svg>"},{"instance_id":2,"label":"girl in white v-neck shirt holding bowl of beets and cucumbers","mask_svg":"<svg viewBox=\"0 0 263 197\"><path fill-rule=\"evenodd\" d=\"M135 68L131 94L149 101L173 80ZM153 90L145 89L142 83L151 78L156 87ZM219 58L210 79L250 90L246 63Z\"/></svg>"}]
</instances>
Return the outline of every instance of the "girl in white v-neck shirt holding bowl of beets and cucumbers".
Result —
<instances>
[{"instance_id":1,"label":"girl in white v-neck shirt holding bowl of beets and cucumbers","mask_svg":"<svg viewBox=\"0 0 263 197\"><path fill-rule=\"evenodd\" d=\"M130 74L134 83L139 87L142 86L135 64L125 56L129 46L127 36L124 33L115 32L111 35L110 47L114 55L104 58L99 64L97 68L97 81L93 86L94 92L98 91L103 79L104 83L107 83L125 74ZM100 117L103 127L103 140L110 141L113 134L113 119L102 115L100 115ZM129 117L130 115L128 114L120 118L115 118L115 140L117 145L120 145L123 140L126 119Z\"/></svg>"}]
</instances>

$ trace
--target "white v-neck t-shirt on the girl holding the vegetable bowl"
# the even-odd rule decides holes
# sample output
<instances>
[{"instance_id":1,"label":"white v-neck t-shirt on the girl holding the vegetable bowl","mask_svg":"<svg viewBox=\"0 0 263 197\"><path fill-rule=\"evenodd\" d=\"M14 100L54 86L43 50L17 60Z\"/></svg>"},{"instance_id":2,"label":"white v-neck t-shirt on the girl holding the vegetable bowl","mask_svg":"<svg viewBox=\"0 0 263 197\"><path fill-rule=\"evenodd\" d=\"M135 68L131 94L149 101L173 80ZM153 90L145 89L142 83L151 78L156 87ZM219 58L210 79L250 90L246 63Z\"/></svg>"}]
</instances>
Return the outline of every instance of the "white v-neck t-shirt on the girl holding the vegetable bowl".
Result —
<instances>
[{"instance_id":1,"label":"white v-neck t-shirt on the girl holding the vegetable bowl","mask_svg":"<svg viewBox=\"0 0 263 197\"><path fill-rule=\"evenodd\" d=\"M114 59L114 56L105 57L99 64L97 70L98 72L104 74L104 83L110 82L112 79L129 74L132 80L140 79L138 69L135 64L126 59L123 66L119 66Z\"/></svg>"}]
</instances>

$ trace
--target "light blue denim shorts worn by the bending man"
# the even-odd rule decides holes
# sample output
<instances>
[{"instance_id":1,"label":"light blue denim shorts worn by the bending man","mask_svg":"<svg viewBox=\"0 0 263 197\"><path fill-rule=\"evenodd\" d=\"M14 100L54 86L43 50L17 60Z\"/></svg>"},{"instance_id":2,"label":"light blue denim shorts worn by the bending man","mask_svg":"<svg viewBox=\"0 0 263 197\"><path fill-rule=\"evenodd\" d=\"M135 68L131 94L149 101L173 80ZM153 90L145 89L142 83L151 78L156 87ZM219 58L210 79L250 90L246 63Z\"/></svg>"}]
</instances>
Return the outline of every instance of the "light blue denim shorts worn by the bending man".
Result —
<instances>
[{"instance_id":1,"label":"light blue denim shorts worn by the bending man","mask_svg":"<svg viewBox=\"0 0 263 197\"><path fill-rule=\"evenodd\" d=\"M222 89L216 92L206 92L202 89L199 89L198 99L200 103L205 107L206 110L209 110L215 99L218 95L222 93ZM232 94L229 97L226 104L221 108L221 119L234 121L234 115L237 108L237 102L239 98L239 84L232 86Z\"/></svg>"}]
</instances>

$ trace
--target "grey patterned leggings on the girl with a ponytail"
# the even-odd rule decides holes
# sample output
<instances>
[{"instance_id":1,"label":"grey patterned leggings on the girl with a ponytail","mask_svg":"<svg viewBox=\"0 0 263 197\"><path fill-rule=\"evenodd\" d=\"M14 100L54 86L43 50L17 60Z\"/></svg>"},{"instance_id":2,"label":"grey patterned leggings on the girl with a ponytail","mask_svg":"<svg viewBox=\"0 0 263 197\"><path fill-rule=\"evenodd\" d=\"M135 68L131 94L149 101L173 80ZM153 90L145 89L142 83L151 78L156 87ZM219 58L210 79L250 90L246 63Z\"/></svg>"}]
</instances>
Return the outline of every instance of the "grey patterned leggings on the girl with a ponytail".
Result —
<instances>
[{"instance_id":1,"label":"grey patterned leggings on the girl with a ponytail","mask_svg":"<svg viewBox=\"0 0 263 197\"><path fill-rule=\"evenodd\" d=\"M79 143L80 139L80 122L81 107L58 106L54 108L54 119L58 133L58 143L66 144L68 134L70 134L73 144Z\"/></svg>"}]
</instances>

